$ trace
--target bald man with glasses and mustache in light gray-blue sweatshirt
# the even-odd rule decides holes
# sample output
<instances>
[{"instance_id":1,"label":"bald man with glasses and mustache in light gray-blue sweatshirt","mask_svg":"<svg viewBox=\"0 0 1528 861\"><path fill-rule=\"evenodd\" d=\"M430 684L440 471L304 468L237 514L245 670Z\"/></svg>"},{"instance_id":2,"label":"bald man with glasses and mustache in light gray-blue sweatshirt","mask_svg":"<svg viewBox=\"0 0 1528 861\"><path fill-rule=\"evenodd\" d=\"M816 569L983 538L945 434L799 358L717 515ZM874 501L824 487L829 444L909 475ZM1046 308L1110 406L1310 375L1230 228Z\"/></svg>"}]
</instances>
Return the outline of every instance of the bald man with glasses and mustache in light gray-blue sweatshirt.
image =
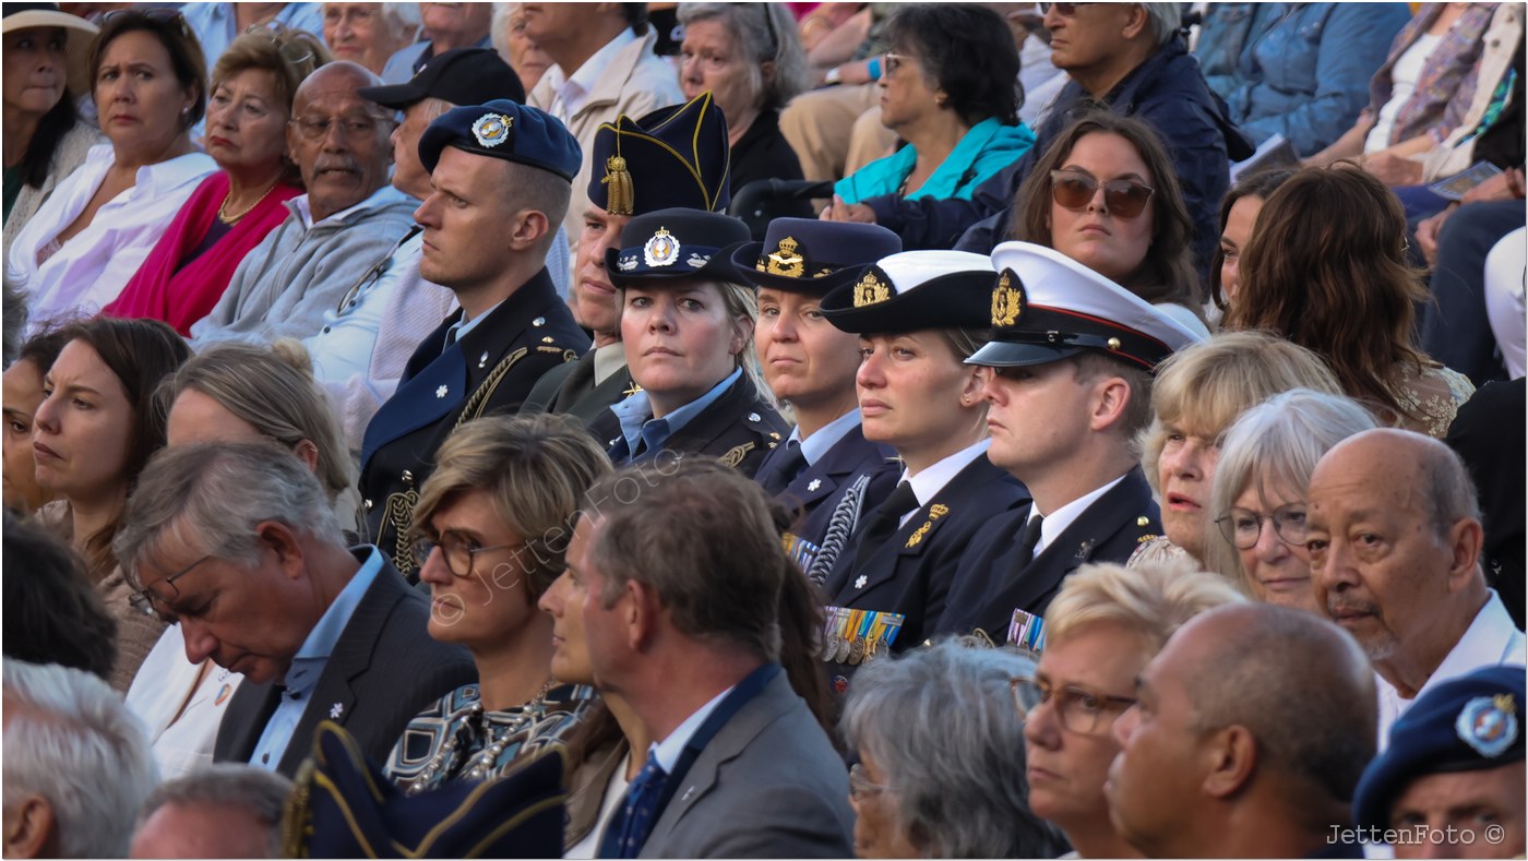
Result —
<instances>
[{"instance_id":1,"label":"bald man with glasses and mustache in light gray-blue sweatshirt","mask_svg":"<svg viewBox=\"0 0 1528 861\"><path fill-rule=\"evenodd\" d=\"M193 348L318 333L324 311L413 226L417 202L388 185L393 114L359 93L377 84L362 66L336 61L298 87L287 148L307 194L287 202L287 220L249 252L212 313L191 327Z\"/></svg>"}]
</instances>

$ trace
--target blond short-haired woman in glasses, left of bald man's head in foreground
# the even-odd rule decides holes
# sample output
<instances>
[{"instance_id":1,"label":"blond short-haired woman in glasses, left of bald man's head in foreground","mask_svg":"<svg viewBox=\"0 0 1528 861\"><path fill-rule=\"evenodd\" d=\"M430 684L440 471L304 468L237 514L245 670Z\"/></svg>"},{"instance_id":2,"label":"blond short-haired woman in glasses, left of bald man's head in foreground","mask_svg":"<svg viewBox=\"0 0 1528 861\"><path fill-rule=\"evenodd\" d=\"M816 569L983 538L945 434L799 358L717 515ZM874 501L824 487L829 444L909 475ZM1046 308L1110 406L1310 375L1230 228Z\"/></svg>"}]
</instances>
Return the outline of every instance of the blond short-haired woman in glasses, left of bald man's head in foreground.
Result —
<instances>
[{"instance_id":1,"label":"blond short-haired woman in glasses, left of bald man's head in foreground","mask_svg":"<svg viewBox=\"0 0 1528 861\"><path fill-rule=\"evenodd\" d=\"M1245 601L1215 574L1180 565L1083 565L1045 611L1034 676L1013 684L1024 719L1030 809L1067 834L1080 858L1140 853L1114 830L1103 782L1120 753L1114 721L1135 702L1135 676L1195 615Z\"/></svg>"}]
</instances>

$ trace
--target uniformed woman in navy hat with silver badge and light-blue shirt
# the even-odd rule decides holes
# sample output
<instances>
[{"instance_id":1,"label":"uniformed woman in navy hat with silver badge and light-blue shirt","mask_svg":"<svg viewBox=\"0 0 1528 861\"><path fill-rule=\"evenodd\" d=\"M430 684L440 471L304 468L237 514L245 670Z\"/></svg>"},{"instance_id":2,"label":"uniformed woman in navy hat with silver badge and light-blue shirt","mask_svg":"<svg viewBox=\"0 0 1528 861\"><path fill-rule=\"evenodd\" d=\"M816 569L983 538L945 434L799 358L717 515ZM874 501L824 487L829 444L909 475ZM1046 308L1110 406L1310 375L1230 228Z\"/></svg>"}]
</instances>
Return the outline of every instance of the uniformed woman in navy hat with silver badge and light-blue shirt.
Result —
<instances>
[{"instance_id":1,"label":"uniformed woman in navy hat with silver badge and light-blue shirt","mask_svg":"<svg viewBox=\"0 0 1528 861\"><path fill-rule=\"evenodd\" d=\"M634 217L605 270L636 389L590 424L616 466L683 452L714 455L752 476L785 441L753 351L758 299L732 269L743 221L697 209Z\"/></svg>"}]
</instances>

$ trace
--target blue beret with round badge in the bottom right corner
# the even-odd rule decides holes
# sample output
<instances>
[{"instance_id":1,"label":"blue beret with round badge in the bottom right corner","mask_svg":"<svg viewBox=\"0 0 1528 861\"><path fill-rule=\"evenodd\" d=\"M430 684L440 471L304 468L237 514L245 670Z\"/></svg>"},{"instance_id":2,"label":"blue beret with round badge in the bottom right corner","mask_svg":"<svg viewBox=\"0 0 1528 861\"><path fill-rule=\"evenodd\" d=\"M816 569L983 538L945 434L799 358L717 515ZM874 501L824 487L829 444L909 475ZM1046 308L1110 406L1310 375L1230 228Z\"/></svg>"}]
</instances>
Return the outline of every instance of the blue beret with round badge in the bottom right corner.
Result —
<instances>
[{"instance_id":1,"label":"blue beret with round badge in the bottom right corner","mask_svg":"<svg viewBox=\"0 0 1528 861\"><path fill-rule=\"evenodd\" d=\"M1390 827L1390 808L1418 777L1523 762L1525 673L1513 664L1485 667L1418 696L1390 727L1389 747L1358 779L1358 826Z\"/></svg>"}]
</instances>

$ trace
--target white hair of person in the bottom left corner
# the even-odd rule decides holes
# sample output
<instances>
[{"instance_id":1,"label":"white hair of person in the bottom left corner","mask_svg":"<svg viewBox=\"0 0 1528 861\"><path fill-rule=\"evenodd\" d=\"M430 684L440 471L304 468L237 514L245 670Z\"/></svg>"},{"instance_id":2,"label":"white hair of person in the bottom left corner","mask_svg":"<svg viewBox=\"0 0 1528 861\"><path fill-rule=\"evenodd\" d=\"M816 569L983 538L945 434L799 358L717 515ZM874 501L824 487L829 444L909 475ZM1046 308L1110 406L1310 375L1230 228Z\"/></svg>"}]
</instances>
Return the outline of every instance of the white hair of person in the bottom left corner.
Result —
<instances>
[{"instance_id":1,"label":"white hair of person in the bottom left corner","mask_svg":"<svg viewBox=\"0 0 1528 861\"><path fill-rule=\"evenodd\" d=\"M159 783L148 731L99 678L5 659L3 798L41 795L61 858L124 858L144 798Z\"/></svg>"}]
</instances>

